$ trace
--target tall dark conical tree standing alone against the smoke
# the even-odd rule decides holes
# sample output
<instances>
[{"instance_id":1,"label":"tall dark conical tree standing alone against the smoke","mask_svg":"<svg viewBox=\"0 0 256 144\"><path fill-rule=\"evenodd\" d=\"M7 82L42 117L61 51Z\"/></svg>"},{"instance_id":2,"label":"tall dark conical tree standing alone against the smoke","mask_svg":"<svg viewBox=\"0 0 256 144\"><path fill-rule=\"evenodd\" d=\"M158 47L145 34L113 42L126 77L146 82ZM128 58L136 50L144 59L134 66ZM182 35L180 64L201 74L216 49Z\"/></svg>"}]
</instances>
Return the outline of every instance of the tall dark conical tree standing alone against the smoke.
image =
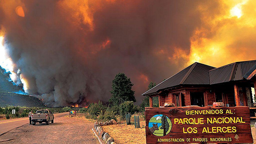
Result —
<instances>
[{"instance_id":1,"label":"tall dark conical tree standing alone against the smoke","mask_svg":"<svg viewBox=\"0 0 256 144\"><path fill-rule=\"evenodd\" d=\"M131 90L133 83L124 73L118 73L112 81L111 98L108 100L113 105L120 105L125 101L136 102L134 91Z\"/></svg>"}]
</instances>

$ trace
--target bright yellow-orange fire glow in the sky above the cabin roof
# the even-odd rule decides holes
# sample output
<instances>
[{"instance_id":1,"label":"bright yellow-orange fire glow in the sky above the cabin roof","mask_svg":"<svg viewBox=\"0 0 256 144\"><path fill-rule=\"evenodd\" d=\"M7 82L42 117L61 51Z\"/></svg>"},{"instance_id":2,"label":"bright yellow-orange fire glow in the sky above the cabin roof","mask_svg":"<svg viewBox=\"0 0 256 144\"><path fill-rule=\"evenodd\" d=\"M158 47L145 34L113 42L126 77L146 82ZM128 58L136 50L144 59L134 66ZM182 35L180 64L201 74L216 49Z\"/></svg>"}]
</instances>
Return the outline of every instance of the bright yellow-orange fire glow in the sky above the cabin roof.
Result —
<instances>
[{"instance_id":1,"label":"bright yellow-orange fire glow in the sky above the cabin roof","mask_svg":"<svg viewBox=\"0 0 256 144\"><path fill-rule=\"evenodd\" d=\"M235 3L236 2L236 3ZM253 0L221 1L223 11L215 14L207 12L203 5L198 6L202 13L202 26L197 27L190 37L190 52L175 50L174 62L179 59L187 60L188 66L194 62L201 62L211 66L222 66L235 61L255 59L248 45L256 35L255 6ZM248 43L249 42L249 43Z\"/></svg>"}]
</instances>

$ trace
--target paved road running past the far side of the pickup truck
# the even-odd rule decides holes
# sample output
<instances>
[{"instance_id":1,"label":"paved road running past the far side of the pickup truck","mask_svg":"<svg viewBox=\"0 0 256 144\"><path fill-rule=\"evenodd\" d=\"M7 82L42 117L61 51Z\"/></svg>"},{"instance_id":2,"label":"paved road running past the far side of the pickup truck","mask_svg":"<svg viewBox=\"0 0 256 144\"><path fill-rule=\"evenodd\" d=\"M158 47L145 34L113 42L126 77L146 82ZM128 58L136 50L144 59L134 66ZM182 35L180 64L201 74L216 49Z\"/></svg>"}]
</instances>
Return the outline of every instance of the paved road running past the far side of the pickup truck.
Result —
<instances>
[{"instance_id":1,"label":"paved road running past the far side of the pickup truck","mask_svg":"<svg viewBox=\"0 0 256 144\"><path fill-rule=\"evenodd\" d=\"M54 117L60 116L60 115L68 115L68 112L65 113L56 113L54 114ZM13 130L17 127L24 126L29 123L29 119L26 118L17 118L17 119L12 119L12 120L4 120L0 121L0 135Z\"/></svg>"}]
</instances>

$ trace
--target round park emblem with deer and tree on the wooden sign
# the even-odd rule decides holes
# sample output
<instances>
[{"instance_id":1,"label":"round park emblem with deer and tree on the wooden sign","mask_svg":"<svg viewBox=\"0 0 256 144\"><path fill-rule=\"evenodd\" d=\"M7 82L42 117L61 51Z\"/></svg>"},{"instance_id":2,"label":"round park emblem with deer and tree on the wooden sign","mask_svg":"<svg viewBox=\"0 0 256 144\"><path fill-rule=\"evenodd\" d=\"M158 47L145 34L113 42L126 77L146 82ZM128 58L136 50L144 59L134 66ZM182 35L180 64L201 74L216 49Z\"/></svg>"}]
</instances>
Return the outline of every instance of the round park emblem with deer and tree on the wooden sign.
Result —
<instances>
[{"instance_id":1,"label":"round park emblem with deer and tree on the wooden sign","mask_svg":"<svg viewBox=\"0 0 256 144\"><path fill-rule=\"evenodd\" d=\"M165 136L171 131L172 123L164 114L156 114L149 120L148 128L153 135Z\"/></svg>"}]
</instances>

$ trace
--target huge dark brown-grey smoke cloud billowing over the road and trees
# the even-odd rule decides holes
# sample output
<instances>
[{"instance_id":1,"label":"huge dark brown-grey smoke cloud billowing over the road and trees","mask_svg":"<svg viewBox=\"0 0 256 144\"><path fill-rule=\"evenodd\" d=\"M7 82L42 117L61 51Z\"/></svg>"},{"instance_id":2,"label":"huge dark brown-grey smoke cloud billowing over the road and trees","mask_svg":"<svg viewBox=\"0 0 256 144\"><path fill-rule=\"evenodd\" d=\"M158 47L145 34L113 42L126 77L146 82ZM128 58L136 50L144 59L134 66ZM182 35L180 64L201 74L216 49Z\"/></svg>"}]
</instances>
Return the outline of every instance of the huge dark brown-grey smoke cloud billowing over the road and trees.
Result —
<instances>
[{"instance_id":1,"label":"huge dark brown-grey smoke cloud billowing over the road and trees","mask_svg":"<svg viewBox=\"0 0 256 144\"><path fill-rule=\"evenodd\" d=\"M161 82L183 67L170 57L174 48L189 51L190 36L201 25L198 1L81 0L78 4L86 4L93 24L73 5L60 6L65 2L0 4L0 24L15 71L19 68L28 81L29 94L53 106L107 101L118 72L131 78L140 103L150 81ZM15 13L17 6L25 17ZM111 42L102 46L107 40Z\"/></svg>"}]
</instances>

